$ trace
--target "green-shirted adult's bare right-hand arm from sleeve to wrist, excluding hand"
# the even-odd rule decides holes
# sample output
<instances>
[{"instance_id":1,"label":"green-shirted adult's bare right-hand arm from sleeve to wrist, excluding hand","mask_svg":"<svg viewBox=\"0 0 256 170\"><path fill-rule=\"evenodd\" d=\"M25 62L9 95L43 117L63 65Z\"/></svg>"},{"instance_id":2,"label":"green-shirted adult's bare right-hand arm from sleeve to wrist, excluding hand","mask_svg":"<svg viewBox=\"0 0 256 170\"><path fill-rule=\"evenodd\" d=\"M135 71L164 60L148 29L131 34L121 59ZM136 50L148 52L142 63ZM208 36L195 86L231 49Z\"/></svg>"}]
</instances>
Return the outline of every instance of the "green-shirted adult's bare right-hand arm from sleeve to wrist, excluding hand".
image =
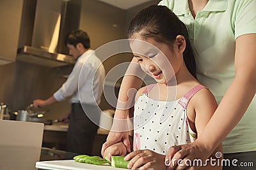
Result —
<instances>
[{"instance_id":1,"label":"green-shirted adult's bare right-hand arm from sleeve to wrist, excluding hand","mask_svg":"<svg viewBox=\"0 0 256 170\"><path fill-rule=\"evenodd\" d=\"M256 34L236 39L236 76L202 132L202 141L214 150L243 117L256 92ZM232 103L232 107L230 107ZM225 114L224 114L225 113ZM216 128L221 131L212 131ZM210 133L211 132L211 133Z\"/></svg>"}]
</instances>

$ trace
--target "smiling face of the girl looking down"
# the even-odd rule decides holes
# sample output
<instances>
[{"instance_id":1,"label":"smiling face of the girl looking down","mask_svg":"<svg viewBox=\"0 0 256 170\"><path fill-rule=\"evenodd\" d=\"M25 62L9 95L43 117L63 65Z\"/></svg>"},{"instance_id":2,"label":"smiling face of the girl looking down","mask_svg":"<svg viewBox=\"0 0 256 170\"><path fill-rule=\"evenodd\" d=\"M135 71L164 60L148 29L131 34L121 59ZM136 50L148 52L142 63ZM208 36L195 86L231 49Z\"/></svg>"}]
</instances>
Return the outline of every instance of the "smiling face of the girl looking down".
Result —
<instances>
[{"instance_id":1,"label":"smiling face of the girl looking down","mask_svg":"<svg viewBox=\"0 0 256 170\"><path fill-rule=\"evenodd\" d=\"M180 55L175 46L159 43L152 38L141 40L132 39L130 42L134 57L145 73L157 83L166 84L179 71L183 62L182 53Z\"/></svg>"}]
</instances>

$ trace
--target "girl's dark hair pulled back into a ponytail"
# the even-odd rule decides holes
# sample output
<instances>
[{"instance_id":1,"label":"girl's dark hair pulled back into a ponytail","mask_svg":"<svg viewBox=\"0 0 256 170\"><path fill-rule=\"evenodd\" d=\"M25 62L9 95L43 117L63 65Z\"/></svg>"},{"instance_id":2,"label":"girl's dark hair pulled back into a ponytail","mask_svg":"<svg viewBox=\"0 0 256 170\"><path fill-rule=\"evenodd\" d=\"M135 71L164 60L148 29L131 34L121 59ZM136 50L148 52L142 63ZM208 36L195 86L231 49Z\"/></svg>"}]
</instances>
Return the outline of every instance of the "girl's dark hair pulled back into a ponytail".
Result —
<instances>
[{"instance_id":1,"label":"girl's dark hair pulled back into a ponytail","mask_svg":"<svg viewBox=\"0 0 256 170\"><path fill-rule=\"evenodd\" d=\"M134 35L154 38L155 41L168 44L172 44L178 35L184 36L186 40L186 49L183 52L184 62L189 72L196 78L196 61L189 42L188 29L169 8L152 5L141 10L129 25L129 38Z\"/></svg>"}]
</instances>

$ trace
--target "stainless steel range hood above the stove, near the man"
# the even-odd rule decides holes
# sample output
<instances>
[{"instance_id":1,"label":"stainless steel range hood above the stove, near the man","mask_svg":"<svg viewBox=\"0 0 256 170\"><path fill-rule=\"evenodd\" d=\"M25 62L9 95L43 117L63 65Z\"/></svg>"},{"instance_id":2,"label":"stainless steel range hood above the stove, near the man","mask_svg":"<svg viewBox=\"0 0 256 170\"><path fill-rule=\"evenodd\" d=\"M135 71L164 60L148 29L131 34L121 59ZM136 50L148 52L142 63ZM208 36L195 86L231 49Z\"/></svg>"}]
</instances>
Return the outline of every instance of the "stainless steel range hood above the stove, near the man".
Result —
<instances>
[{"instance_id":1,"label":"stainless steel range hood above the stove, near the man","mask_svg":"<svg viewBox=\"0 0 256 170\"><path fill-rule=\"evenodd\" d=\"M28 43L27 41L18 49L17 60L47 67L74 64L76 60L67 55L68 50L64 41L68 32L78 28L80 1L37 0L33 32L30 35L31 42ZM24 18L22 20L28 22L25 18L28 16L26 15L26 11L28 11L26 10L26 3L23 10L22 18ZM76 23L73 21L74 17L76 17ZM26 24L23 26L26 27ZM22 28L20 30L22 31ZM22 38L22 36L20 37Z\"/></svg>"}]
</instances>

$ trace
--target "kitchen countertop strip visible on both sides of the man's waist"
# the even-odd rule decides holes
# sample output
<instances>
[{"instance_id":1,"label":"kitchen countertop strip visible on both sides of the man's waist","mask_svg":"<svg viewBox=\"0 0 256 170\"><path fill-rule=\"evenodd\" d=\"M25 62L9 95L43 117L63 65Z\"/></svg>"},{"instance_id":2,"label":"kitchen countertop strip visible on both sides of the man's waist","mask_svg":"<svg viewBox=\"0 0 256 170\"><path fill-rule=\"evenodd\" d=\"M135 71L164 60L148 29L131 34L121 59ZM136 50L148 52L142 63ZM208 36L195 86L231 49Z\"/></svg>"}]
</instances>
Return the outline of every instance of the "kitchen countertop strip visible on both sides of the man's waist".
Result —
<instances>
[{"instance_id":1,"label":"kitchen countertop strip visible on both sides of the man's waist","mask_svg":"<svg viewBox=\"0 0 256 170\"><path fill-rule=\"evenodd\" d=\"M58 131L58 132L67 132L68 124L63 123L54 123L52 125L44 125L44 131ZM109 131L99 127L97 134L108 135Z\"/></svg>"}]
</instances>

